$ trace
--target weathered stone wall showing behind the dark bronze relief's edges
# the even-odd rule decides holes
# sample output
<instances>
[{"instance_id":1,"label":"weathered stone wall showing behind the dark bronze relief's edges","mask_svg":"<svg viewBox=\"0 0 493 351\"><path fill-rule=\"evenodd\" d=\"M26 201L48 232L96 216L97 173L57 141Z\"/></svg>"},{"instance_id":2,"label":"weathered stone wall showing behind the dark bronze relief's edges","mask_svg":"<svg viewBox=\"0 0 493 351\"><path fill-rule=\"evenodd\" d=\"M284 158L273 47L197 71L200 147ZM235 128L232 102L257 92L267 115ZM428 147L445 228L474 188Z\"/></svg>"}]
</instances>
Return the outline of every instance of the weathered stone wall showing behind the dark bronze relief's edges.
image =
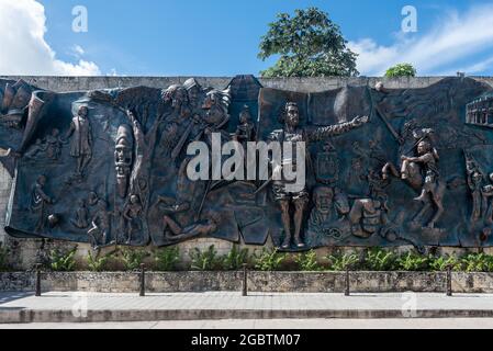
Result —
<instances>
[{"instance_id":1,"label":"weathered stone wall showing behind the dark bronze relief's edges","mask_svg":"<svg viewBox=\"0 0 493 351\"><path fill-rule=\"evenodd\" d=\"M53 90L56 92L64 91L81 91L92 89L109 88L127 88L135 86L147 86L156 88L166 88L173 83L182 83L188 77L1 77L11 80L20 78L37 86L42 89ZM232 80L232 77L211 78L199 77L198 80L204 87L225 88ZM290 78L290 79L259 79L260 83L267 88L277 88L283 90L295 90L303 92L325 91L350 86L374 86L378 81L382 81L386 88L425 88L429 84L438 82L441 77L421 77L421 78L400 78L400 79L382 79L382 78ZM493 87L493 77L475 77L479 81L484 81ZM0 242L5 242L12 250L12 261L16 269L30 269L38 260L40 251L47 252L55 247L70 248L74 244L53 242L43 240L18 240L5 236L3 226L5 219L5 208L10 196L10 188L12 180L7 170L0 165ZM208 249L214 245L219 254L227 253L233 244L216 239L197 239L180 244L180 252L182 260L189 260L189 252L193 248L201 250ZM272 244L267 242L267 247ZM43 250L40 250L43 249ZM77 258L80 262L85 260L89 250L88 245L79 245ZM249 247L250 251L259 250L260 247ZM406 248L403 248L406 249ZM351 249L355 250L355 249ZM320 256L324 256L329 249L318 250ZM458 251L453 248L441 248L442 252ZM486 249L486 252L493 251Z\"/></svg>"}]
</instances>

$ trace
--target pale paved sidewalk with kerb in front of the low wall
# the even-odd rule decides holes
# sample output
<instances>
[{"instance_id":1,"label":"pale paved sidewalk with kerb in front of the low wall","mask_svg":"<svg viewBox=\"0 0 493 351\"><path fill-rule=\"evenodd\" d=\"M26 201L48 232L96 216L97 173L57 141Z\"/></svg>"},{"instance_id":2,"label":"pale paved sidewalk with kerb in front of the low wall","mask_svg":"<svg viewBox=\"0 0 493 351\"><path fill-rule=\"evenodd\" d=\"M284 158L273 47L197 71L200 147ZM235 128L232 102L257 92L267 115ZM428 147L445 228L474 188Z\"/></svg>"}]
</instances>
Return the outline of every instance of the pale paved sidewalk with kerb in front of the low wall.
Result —
<instances>
[{"instance_id":1,"label":"pale paved sidewalk with kerb in front of the low wall","mask_svg":"<svg viewBox=\"0 0 493 351\"><path fill-rule=\"evenodd\" d=\"M493 318L493 295L0 293L2 324L287 318Z\"/></svg>"}]
</instances>

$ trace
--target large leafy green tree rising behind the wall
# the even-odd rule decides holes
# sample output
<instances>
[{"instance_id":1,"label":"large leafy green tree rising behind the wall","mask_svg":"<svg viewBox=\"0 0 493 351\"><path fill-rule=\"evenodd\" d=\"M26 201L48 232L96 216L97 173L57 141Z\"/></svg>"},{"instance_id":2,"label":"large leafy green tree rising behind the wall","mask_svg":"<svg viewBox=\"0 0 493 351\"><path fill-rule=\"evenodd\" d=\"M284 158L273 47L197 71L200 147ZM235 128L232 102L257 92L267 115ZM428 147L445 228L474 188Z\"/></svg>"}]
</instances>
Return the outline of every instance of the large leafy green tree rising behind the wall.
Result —
<instances>
[{"instance_id":1,"label":"large leafy green tree rising behind the wall","mask_svg":"<svg viewBox=\"0 0 493 351\"><path fill-rule=\"evenodd\" d=\"M262 77L358 76L357 54L347 46L340 29L317 8L280 13L261 37L262 60L279 55L277 64L261 71Z\"/></svg>"}]
</instances>

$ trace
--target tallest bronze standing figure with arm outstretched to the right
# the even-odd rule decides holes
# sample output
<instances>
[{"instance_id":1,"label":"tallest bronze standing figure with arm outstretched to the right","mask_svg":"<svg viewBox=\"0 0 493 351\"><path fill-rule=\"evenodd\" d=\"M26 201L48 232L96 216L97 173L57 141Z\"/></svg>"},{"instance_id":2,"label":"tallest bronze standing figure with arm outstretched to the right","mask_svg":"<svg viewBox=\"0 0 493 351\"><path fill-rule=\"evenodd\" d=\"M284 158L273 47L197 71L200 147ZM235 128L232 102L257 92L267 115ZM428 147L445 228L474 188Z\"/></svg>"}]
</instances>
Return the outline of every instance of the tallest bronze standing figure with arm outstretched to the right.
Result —
<instances>
[{"instance_id":1,"label":"tallest bronze standing figure with arm outstretched to the right","mask_svg":"<svg viewBox=\"0 0 493 351\"><path fill-rule=\"evenodd\" d=\"M320 141L326 140L333 136L341 135L350 132L355 128L368 123L368 116L356 117L349 123L341 123L337 125L326 127L300 127L300 111L298 104L289 102L284 109L284 128L280 131L273 131L270 135L270 139L279 143L295 143L304 141ZM282 165L292 163L295 166L295 159L288 159L283 155ZM278 202L281 208L282 224L284 227L284 240L281 245L282 249L289 249L291 241L298 248L303 248L305 244L301 238L301 228L303 224L303 217L309 204L309 192L306 188L301 191L290 191L287 188L285 180L274 181L272 183L272 192L276 202ZM291 230L291 206L294 207L294 230Z\"/></svg>"}]
</instances>

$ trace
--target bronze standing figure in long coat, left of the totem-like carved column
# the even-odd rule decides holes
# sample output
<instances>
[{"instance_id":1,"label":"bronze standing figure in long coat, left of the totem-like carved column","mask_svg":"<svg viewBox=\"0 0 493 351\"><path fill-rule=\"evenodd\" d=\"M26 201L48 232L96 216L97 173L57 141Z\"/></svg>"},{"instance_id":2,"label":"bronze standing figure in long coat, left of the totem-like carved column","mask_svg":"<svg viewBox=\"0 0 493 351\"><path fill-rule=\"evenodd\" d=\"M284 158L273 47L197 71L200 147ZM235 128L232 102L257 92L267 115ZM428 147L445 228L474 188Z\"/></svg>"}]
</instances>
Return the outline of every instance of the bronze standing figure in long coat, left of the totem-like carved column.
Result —
<instances>
[{"instance_id":1,"label":"bronze standing figure in long coat, left of the totem-like carved column","mask_svg":"<svg viewBox=\"0 0 493 351\"><path fill-rule=\"evenodd\" d=\"M65 136L65 139L71 137L70 156L77 159L78 176L82 176L92 158L92 131L88 114L89 109L80 106Z\"/></svg>"}]
</instances>

